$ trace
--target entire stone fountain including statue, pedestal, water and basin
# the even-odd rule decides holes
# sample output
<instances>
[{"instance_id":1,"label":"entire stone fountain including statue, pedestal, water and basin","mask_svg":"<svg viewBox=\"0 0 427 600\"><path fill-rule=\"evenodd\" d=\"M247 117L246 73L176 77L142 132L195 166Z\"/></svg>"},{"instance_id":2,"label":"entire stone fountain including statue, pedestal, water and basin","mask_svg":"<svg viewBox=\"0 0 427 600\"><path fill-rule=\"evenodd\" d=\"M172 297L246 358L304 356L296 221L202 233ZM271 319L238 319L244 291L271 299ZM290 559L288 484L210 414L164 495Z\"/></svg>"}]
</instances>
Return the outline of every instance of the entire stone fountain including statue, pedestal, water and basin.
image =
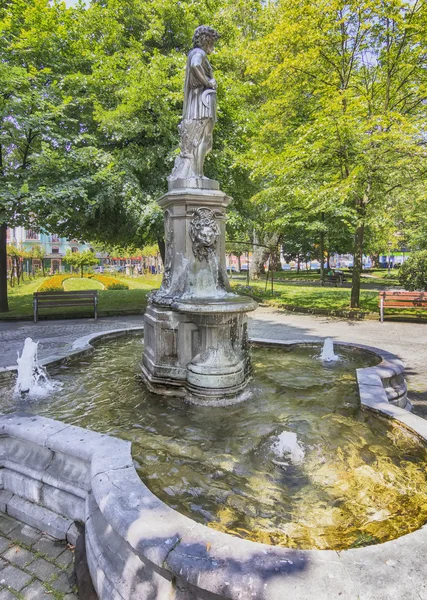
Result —
<instances>
[{"instance_id":1,"label":"entire stone fountain including statue, pedestal, water and basin","mask_svg":"<svg viewBox=\"0 0 427 600\"><path fill-rule=\"evenodd\" d=\"M144 316L146 385L132 362L141 340L113 340L89 366L58 372L64 390L38 400L37 416L0 416L0 505L72 544L84 524L100 600L377 598L379 570L390 596L414 597L412 576L421 592L426 576L427 431L404 410L402 363L343 344L337 356L329 338L320 360L313 344L252 340L248 386L256 304L230 290L230 198L203 175L217 37L197 28L188 56L181 150L159 200L164 276ZM120 333L78 340L73 357ZM27 340L5 413L34 412L36 354Z\"/></svg>"}]
</instances>

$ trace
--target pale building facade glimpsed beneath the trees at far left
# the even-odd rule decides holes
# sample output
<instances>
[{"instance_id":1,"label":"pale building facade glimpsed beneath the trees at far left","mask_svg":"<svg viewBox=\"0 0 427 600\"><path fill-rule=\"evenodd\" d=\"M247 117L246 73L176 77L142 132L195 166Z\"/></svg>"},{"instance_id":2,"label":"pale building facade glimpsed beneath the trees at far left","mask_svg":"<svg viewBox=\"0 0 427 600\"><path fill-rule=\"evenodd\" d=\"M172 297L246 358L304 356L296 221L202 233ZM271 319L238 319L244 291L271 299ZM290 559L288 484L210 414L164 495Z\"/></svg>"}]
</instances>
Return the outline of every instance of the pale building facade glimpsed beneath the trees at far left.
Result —
<instances>
[{"instance_id":1,"label":"pale building facade glimpsed beneath the trees at far left","mask_svg":"<svg viewBox=\"0 0 427 600\"><path fill-rule=\"evenodd\" d=\"M83 252L89 250L90 245L78 240L68 240L64 237L59 237L54 233L38 232L33 229L25 229L24 227L15 227L7 230L7 243L11 246L16 246L19 250L31 252L34 246L40 246L45 254L43 258L43 266L47 271L53 273L61 273L69 270L68 265L63 263L63 259L67 250L71 252ZM24 271L32 269L41 269L41 259L24 259ZM8 259L8 268L12 268L11 260Z\"/></svg>"}]
</instances>

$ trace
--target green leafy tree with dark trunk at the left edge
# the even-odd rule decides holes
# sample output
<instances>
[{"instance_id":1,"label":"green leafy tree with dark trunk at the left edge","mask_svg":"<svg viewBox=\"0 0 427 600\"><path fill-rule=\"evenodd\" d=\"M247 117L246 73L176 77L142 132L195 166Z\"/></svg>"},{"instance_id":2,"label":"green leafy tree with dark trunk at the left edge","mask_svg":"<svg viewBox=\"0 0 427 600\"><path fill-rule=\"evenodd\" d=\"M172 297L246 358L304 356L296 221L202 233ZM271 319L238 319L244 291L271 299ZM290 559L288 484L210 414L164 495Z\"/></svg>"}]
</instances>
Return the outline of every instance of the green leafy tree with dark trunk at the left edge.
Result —
<instances>
[{"instance_id":1,"label":"green leafy tree with dark trunk at the left edge","mask_svg":"<svg viewBox=\"0 0 427 600\"><path fill-rule=\"evenodd\" d=\"M85 14L83 5L67 9L59 0L0 7L1 312L8 226L116 240L136 229L132 187L108 148L93 143L93 106L77 89L92 60Z\"/></svg>"}]
</instances>

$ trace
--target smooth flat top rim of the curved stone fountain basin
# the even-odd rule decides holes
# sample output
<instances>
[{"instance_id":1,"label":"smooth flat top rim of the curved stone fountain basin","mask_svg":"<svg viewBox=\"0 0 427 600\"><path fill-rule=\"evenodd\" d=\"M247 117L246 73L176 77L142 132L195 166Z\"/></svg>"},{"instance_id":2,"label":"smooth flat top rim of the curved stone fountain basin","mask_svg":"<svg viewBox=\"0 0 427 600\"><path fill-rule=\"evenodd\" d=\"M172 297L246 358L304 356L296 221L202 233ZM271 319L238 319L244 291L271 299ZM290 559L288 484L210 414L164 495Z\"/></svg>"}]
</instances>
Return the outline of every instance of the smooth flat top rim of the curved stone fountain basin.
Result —
<instances>
[{"instance_id":1,"label":"smooth flat top rim of the curved stone fountain basin","mask_svg":"<svg viewBox=\"0 0 427 600\"><path fill-rule=\"evenodd\" d=\"M45 366L68 362L92 352L94 350L92 344L96 342L142 332L143 327L134 327L92 333L77 339L66 356L48 357L42 362ZM254 345L283 348L295 345L313 346L321 343L315 340L283 342L261 338L251 338L250 341ZM345 346L365 350L381 358L380 364L375 367L357 369L362 406L382 416L395 419L427 442L427 423L424 419L399 406L390 404L387 399L383 379L401 375L404 369L402 361L396 355L372 346L335 341L334 343L338 347ZM3 369L9 373L13 370L12 368ZM387 564L384 557L395 557L396 553L402 556L402 552L404 555L406 552L410 552L413 559L417 551L422 555L427 545L426 526L382 544L342 551L295 550L240 539L231 534L210 529L185 517L152 494L136 473L129 442L35 415L0 416L2 436L7 435L15 439L28 439L28 437L38 439L40 427L49 433L44 440L42 436L43 446L47 447L54 445L55 438L55 443L59 444L61 448L65 445L71 448L77 438L81 438L82 435L92 440L102 440L99 449L96 449L96 443L93 446L89 445L87 449L78 443L75 451L79 456L83 453L85 458L90 461L90 491L109 526L130 545L133 552L144 562L148 561L155 565L158 572L165 571L169 574L168 577L176 576L191 586L196 586L202 593L215 594L215 597L241 600L241 586L252 585L252 583L248 584L248 577L251 577L254 592L256 590L256 595L251 594L252 597L276 600L278 596L274 595L274 590L270 592L268 589L264 589L263 583L267 576L270 577L268 574L273 572L276 591L282 593L281 586L283 586L283 591L291 592L292 589L295 592L295 595L292 595L293 598L307 598L308 596L304 596L307 593L306 590L313 585L319 585L319 577L322 581L326 578L325 581L328 582L330 569L334 569L334 572L338 573L336 579L342 578L344 582L329 581L333 588L337 586L339 588L349 579L348 565L353 561L355 564L363 564L365 572L372 569L374 578L376 575L374 566L376 565L378 568L375 561L379 560L379 553L382 557L381 568L384 568L384 565ZM59 435L53 435L52 431L54 430L57 430ZM8 510L7 506L6 510ZM89 518L87 515L87 522ZM153 522L158 524L159 532L155 540L152 539L153 536L149 535L152 533ZM137 536L135 535L136 531L138 531ZM391 558L389 562L393 563L393 559ZM200 576L203 571L200 568L201 565L206 569L205 575L203 576L202 573L202 577ZM238 566L238 576L236 565ZM298 565L304 565L305 568L309 566L309 570L304 573L303 578L298 575ZM213 570L218 572L218 576L213 576ZM221 587L219 587L219 579L222 581ZM225 581L229 581L226 588L224 588ZM396 592L398 592L400 586L404 585L401 577L395 585L397 585ZM335 597L331 591L329 590L329 597ZM103 600L104 597L109 596L101 593L100 597ZM319 594L317 597L327 598L328 595L325 592L325 596ZM352 592L347 593L344 597L362 598L364 596L354 595ZM369 597L376 598L376 596Z\"/></svg>"}]
</instances>

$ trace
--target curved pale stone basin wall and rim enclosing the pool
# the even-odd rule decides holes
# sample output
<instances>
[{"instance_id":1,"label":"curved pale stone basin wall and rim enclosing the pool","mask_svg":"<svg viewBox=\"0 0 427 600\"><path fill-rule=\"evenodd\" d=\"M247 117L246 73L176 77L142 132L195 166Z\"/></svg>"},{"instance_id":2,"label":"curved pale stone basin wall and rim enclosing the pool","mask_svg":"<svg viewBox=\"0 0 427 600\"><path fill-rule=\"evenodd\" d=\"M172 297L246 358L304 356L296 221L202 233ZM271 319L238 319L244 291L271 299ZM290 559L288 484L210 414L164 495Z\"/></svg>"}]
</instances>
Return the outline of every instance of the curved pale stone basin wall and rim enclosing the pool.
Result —
<instances>
[{"instance_id":1,"label":"curved pale stone basin wall and rim enclosing the pool","mask_svg":"<svg viewBox=\"0 0 427 600\"><path fill-rule=\"evenodd\" d=\"M91 351L95 339L128 332L81 338L72 355ZM378 366L357 371L362 405L427 441L427 423L396 405L406 404L401 361L388 352L356 347L382 358ZM78 535L75 522L83 522L101 600L427 597L426 527L384 544L339 552L250 542L196 523L163 503L137 475L129 442L33 415L2 416L0 427L0 509L71 543Z\"/></svg>"}]
</instances>

